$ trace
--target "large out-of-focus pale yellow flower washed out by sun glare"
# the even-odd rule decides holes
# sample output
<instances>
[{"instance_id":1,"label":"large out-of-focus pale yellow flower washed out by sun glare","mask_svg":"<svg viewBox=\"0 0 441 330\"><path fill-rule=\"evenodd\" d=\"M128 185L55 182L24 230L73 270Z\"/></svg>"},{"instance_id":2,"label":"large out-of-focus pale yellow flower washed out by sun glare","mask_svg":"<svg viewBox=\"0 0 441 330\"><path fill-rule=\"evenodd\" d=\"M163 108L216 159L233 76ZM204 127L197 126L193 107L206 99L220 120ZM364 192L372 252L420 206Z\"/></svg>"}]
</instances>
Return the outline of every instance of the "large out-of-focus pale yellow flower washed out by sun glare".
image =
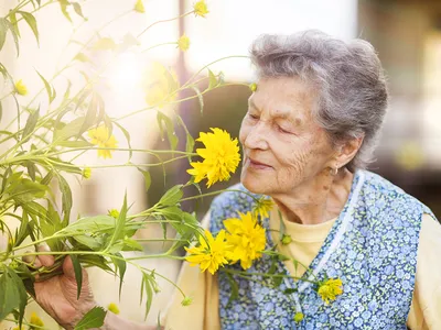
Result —
<instances>
[{"instance_id":1,"label":"large out-of-focus pale yellow flower washed out by sun glare","mask_svg":"<svg viewBox=\"0 0 441 330\"><path fill-rule=\"evenodd\" d=\"M162 108L176 99L175 90L179 84L174 72L169 72L162 64L154 62L146 77L148 77L148 81L144 82L147 85L146 102L149 106Z\"/></svg>"}]
</instances>

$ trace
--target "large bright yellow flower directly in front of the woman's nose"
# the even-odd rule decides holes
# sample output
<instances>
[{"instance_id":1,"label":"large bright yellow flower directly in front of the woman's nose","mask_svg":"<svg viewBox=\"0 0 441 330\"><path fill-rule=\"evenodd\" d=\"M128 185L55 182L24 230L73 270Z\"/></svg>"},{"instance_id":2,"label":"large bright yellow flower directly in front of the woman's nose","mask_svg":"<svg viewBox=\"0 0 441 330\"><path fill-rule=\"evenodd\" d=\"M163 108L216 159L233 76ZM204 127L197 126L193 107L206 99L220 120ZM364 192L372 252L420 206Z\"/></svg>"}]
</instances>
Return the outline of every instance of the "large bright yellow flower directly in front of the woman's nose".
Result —
<instances>
[{"instance_id":1,"label":"large bright yellow flower directly in front of the woman's nose","mask_svg":"<svg viewBox=\"0 0 441 330\"><path fill-rule=\"evenodd\" d=\"M237 139L232 140L229 133L224 130L211 130L213 133L201 133L196 140L205 145L205 148L196 150L204 161L190 163L193 168L187 169L189 174L195 176L195 183L207 178L208 188L214 183L228 180L240 162Z\"/></svg>"}]
</instances>

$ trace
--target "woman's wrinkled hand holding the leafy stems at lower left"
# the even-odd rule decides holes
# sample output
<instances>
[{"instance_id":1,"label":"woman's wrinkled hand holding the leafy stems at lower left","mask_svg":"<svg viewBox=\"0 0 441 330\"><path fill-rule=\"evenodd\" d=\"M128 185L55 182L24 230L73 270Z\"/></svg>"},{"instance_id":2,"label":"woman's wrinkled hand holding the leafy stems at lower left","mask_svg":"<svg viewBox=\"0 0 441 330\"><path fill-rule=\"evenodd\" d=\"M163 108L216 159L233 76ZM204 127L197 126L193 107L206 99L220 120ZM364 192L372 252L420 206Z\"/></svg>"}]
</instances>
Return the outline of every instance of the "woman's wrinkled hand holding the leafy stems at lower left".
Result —
<instances>
[{"instance_id":1,"label":"woman's wrinkled hand holding the leafy stems at lower left","mask_svg":"<svg viewBox=\"0 0 441 330\"><path fill-rule=\"evenodd\" d=\"M34 266L50 267L54 264L53 255L39 255ZM77 285L74 265L69 256L63 262L63 274L34 284L35 300L65 329L74 329L83 316L97 304L94 300L87 272L83 270L83 285L77 299Z\"/></svg>"}]
</instances>

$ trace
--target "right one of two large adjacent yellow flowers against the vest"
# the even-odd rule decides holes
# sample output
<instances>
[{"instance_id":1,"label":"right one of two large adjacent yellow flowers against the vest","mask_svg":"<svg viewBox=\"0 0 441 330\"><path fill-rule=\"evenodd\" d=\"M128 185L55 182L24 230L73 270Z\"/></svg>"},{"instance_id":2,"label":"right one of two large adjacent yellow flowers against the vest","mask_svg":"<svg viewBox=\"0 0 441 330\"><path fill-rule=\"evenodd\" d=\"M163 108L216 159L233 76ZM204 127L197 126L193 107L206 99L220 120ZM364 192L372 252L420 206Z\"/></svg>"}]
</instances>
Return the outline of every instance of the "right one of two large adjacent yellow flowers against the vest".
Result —
<instances>
[{"instance_id":1,"label":"right one of two large adjacent yellow flowers against the vest","mask_svg":"<svg viewBox=\"0 0 441 330\"><path fill-rule=\"evenodd\" d=\"M240 266L248 270L252 261L259 258L267 244L265 228L257 223L251 212L239 213L240 219L232 218L224 220L228 233L227 243L232 245L228 258L233 262L240 261Z\"/></svg>"}]
</instances>

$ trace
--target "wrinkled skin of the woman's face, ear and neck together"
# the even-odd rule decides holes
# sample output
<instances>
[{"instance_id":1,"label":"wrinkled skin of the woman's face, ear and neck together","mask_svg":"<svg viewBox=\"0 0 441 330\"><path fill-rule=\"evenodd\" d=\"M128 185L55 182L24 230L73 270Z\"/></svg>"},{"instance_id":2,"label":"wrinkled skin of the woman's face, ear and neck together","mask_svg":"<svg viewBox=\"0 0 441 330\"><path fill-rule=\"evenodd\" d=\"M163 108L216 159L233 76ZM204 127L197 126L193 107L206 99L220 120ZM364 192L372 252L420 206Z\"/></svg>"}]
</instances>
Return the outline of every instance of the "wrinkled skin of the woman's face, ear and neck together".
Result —
<instances>
[{"instance_id":1,"label":"wrinkled skin of the woman's face, ear and neck together","mask_svg":"<svg viewBox=\"0 0 441 330\"><path fill-rule=\"evenodd\" d=\"M320 223L342 210L353 175L343 167L363 139L333 145L313 118L316 94L300 78L262 78L248 101L239 140L240 180L271 196L290 221Z\"/></svg>"}]
</instances>

